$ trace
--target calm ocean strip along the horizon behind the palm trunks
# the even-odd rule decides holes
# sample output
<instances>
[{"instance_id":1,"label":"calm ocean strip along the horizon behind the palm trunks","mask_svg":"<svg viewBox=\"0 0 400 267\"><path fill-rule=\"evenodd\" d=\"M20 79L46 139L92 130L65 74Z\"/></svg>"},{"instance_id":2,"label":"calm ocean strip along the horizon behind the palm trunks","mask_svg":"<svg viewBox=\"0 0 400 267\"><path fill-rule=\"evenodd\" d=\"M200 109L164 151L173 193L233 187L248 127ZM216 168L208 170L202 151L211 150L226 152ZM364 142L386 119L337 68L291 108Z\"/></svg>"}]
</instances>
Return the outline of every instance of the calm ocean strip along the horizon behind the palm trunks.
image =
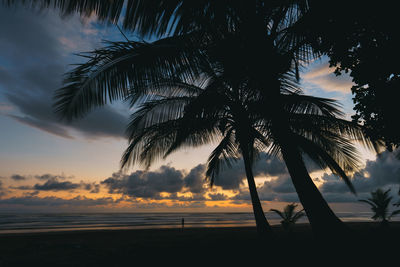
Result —
<instances>
[{"instance_id":1,"label":"calm ocean strip along the horizon behind the palm trunks","mask_svg":"<svg viewBox=\"0 0 400 267\"><path fill-rule=\"evenodd\" d=\"M371 213L336 213L343 221L371 221ZM280 223L267 212L270 224ZM73 230L255 226L252 213L0 213L0 234ZM307 222L303 217L299 223Z\"/></svg>"}]
</instances>

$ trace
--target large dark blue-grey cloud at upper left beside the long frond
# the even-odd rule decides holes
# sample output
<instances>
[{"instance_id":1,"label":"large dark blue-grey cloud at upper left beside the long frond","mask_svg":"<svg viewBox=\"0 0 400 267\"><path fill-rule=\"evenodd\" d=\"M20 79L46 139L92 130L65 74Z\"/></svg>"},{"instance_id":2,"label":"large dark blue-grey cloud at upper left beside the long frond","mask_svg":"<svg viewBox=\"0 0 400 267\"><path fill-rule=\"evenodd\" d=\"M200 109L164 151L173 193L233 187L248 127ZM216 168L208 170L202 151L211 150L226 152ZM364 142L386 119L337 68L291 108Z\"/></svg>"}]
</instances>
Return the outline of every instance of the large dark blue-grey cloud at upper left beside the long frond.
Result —
<instances>
[{"instance_id":1,"label":"large dark blue-grey cloud at upper left beside the long frond","mask_svg":"<svg viewBox=\"0 0 400 267\"><path fill-rule=\"evenodd\" d=\"M53 112L55 89L61 87L68 65L80 60L72 52L91 50L92 43L101 41L96 35L82 37L81 31L75 17L63 21L56 12L38 15L23 8L0 7L0 93L19 111L8 116L64 138L72 137L70 130L89 138L122 138L127 117L111 107L71 124L61 122Z\"/></svg>"}]
</instances>

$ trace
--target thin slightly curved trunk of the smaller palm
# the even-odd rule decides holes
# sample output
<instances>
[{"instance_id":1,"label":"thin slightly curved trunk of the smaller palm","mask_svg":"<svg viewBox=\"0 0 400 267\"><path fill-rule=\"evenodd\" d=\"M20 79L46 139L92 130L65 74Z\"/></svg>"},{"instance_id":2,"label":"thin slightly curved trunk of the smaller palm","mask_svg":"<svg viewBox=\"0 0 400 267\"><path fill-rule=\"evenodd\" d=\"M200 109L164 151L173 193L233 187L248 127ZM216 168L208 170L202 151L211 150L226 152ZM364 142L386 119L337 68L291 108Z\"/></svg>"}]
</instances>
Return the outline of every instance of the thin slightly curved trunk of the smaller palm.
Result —
<instances>
[{"instance_id":1,"label":"thin slightly curved trunk of the smaller palm","mask_svg":"<svg viewBox=\"0 0 400 267\"><path fill-rule=\"evenodd\" d=\"M247 182L249 184L249 191L251 196L251 203L253 205L254 217L256 220L257 232L260 235L266 235L266 234L272 235L272 228L269 225L267 219L265 218L265 214L261 206L260 199L258 197L256 183L254 181L253 170L251 168L249 153L247 153L246 151L243 151L243 161L246 171Z\"/></svg>"}]
</instances>

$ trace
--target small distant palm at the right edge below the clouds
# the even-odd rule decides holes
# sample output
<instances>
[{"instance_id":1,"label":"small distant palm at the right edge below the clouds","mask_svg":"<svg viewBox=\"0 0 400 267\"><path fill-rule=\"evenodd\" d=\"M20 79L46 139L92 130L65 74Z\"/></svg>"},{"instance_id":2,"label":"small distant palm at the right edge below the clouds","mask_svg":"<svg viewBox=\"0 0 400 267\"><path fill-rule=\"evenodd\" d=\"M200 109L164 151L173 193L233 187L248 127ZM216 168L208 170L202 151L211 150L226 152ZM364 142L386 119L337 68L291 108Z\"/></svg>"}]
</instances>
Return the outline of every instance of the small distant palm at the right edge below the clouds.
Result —
<instances>
[{"instance_id":1,"label":"small distant palm at the right edge below the clouds","mask_svg":"<svg viewBox=\"0 0 400 267\"><path fill-rule=\"evenodd\" d=\"M374 212L372 219L381 221L381 225L387 225L390 218L400 213L400 210L395 210L389 215L389 204L393 197L389 196L390 189L383 191L381 188L371 192L371 197L368 199L360 199L359 201L365 202L371 206Z\"/></svg>"}]
</instances>

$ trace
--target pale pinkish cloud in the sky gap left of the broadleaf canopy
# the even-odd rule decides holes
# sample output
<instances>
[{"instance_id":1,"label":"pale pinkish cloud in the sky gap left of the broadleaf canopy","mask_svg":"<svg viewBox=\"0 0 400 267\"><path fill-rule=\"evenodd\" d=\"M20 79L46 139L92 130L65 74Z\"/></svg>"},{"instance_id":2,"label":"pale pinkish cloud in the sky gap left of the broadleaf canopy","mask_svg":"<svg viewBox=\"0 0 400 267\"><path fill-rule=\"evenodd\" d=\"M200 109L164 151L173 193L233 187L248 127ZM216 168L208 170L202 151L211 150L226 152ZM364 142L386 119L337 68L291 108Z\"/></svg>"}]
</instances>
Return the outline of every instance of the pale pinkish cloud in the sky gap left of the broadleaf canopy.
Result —
<instances>
[{"instance_id":1,"label":"pale pinkish cloud in the sky gap left of the broadleaf canopy","mask_svg":"<svg viewBox=\"0 0 400 267\"><path fill-rule=\"evenodd\" d=\"M347 74L336 76L329 63L319 62L302 75L303 82L318 86L328 92L351 93L353 82Z\"/></svg>"}]
</instances>

